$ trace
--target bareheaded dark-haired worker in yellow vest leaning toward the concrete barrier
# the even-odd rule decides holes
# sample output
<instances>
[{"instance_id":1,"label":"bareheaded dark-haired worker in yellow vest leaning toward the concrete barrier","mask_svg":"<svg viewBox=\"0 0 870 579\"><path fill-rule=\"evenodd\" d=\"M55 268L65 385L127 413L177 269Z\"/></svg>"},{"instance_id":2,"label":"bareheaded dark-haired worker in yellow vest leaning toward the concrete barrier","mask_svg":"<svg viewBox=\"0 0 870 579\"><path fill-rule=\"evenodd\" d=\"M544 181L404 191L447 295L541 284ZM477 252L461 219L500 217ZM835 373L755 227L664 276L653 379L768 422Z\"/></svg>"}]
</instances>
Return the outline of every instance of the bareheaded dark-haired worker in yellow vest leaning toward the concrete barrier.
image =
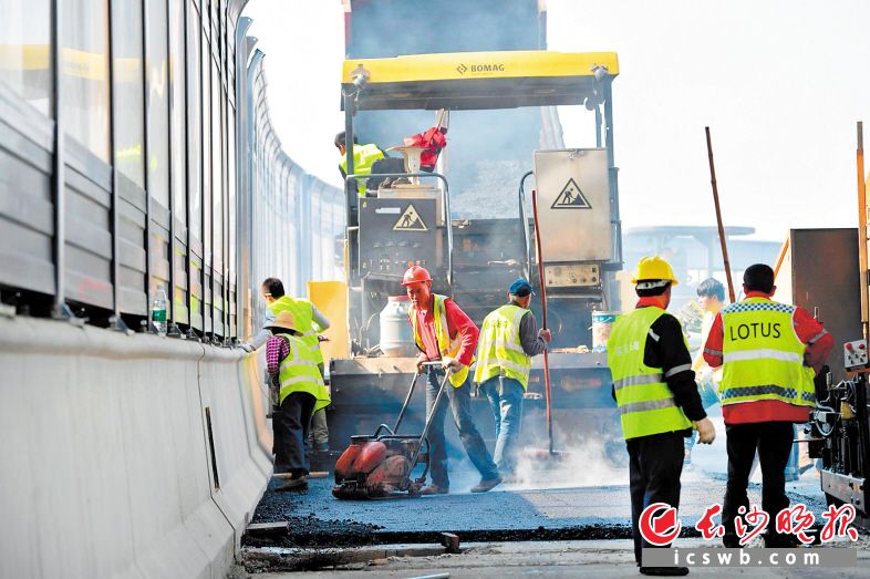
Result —
<instances>
[{"instance_id":1,"label":"bareheaded dark-haired worker in yellow vest leaning toward the concrete barrier","mask_svg":"<svg viewBox=\"0 0 870 579\"><path fill-rule=\"evenodd\" d=\"M324 375L323 352L320 350L320 333L329 329L330 321L311 301L293 298L284 293L284 285L278 278L266 278L260 285L260 296L266 301L266 324L262 332L251 340L249 351L260 348L269 339L269 322L282 311L290 312L296 327L302 335L308 349L314 354L320 375ZM327 424L327 409L321 407L311 418L311 434L314 438L313 447L318 452L329 451L329 426Z\"/></svg>"}]
</instances>

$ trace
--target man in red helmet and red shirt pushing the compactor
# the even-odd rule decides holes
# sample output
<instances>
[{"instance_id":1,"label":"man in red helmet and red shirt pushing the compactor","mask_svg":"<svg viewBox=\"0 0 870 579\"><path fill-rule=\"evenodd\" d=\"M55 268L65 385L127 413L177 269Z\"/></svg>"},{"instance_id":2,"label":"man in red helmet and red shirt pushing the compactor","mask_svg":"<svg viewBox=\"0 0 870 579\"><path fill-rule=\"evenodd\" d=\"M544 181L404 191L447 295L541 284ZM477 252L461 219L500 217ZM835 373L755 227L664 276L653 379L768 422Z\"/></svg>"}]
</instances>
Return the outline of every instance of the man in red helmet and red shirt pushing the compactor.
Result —
<instances>
[{"instance_id":1,"label":"man in red helmet and red shirt pushing the compactor","mask_svg":"<svg viewBox=\"0 0 870 579\"><path fill-rule=\"evenodd\" d=\"M426 415L432 416L428 440L429 473L432 483L421 489L422 495L446 495L450 482L447 476L447 448L444 440L444 417L447 401L459 438L475 467L480 472L480 482L472 487L472 493L485 493L499 483L501 477L486 448L484 437L472 418L472 385L468 366L474 359L479 330L452 299L432 292L432 277L425 268L414 266L405 271L402 285L411 299L408 321L414 332L414 342L420 349L417 372L428 368L426 384ZM439 360L442 368L424 366L428 361ZM438 395L439 382L444 372L452 370L446 400L442 396L433 410Z\"/></svg>"}]
</instances>

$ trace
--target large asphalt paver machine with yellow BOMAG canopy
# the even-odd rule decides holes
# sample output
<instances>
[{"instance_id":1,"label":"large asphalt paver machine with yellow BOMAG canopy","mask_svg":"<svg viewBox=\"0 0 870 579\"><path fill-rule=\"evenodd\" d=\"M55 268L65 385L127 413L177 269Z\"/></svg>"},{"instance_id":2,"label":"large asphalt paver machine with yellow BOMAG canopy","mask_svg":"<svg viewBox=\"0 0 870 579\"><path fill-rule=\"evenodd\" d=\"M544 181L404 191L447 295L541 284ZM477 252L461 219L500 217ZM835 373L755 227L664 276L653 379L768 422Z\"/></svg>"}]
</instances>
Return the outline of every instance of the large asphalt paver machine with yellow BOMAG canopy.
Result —
<instances>
[{"instance_id":1,"label":"large asphalt paver machine with yellow BOMAG canopy","mask_svg":"<svg viewBox=\"0 0 870 579\"><path fill-rule=\"evenodd\" d=\"M462 161L459 151L450 152L448 146L433 173L393 175L390 186L369 188L363 197L356 184L367 175L354 174L353 157L348 154L344 257L352 345L346 356L333 359L330 365L330 430L336 449L343 451L350 436L372 432L402 404L415 350L412 343L404 355L383 355L379 314L390 297L404 292L400 282L411 265L426 267L434 291L453 297L478 324L504 303L514 279L526 277L538 288L545 282L555 334L550 371L559 431L573 435L582 426L617 437L619 422L604 353L581 347L593 345L592 312L619 309L617 272L622 269L622 249L612 103L618 73L612 52L465 52L344 62L342 106L348 142L360 112L396 112L401 118L405 111L433 111L434 118L435 111L452 111L450 131L456 132L460 130L456 116L467 112L578 105L589 115L597 146L529 152L524 163L534 170L527 169L510 188L487 192L479 204L485 206L478 213L486 215L491 208L499 215L509 206L516 208L515 217L474 219L457 218L452 210L452 198L470 195L450 185L450 166ZM422 128L407 126L406 134ZM487 127L465 123L462 130ZM449 144L455 134L447 136ZM360 143L365 143L365 135L360 135ZM393 144L379 143L382 148ZM508 145L493 142L491 146ZM406 165L414 167L414 163ZM480 170L497 172L498 167ZM545 280L538 279L532 251L527 199L532 187L541 213ZM536 361L527 397L539 399L542 385ZM477 406L481 414L489 413L486 404ZM529 403L524 427L530 430L535 443L546 438L542 427L536 427L542 426L541 418L542 413ZM415 420L420 426L421 417Z\"/></svg>"}]
</instances>

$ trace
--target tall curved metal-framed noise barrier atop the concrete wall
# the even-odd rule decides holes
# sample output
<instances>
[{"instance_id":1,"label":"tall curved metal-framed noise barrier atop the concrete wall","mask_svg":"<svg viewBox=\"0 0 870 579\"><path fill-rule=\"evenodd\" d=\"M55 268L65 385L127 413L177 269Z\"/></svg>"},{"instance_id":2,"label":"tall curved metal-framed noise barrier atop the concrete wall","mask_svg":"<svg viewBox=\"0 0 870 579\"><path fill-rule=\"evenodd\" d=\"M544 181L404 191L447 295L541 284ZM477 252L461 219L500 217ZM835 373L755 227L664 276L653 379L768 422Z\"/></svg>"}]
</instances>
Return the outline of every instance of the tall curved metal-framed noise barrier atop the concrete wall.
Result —
<instances>
[{"instance_id":1,"label":"tall curved metal-framed noise barrier atop the concrete wall","mask_svg":"<svg viewBox=\"0 0 870 579\"><path fill-rule=\"evenodd\" d=\"M246 35L250 19L239 18L247 0L136 4L142 56L132 82L141 105L114 82L123 71L114 54L123 32L112 21L118 0L91 7L108 22L107 52L102 41L95 49L79 40L79 20L69 20L60 0L41 1L51 30L39 42L49 45L22 59L28 69L19 72L25 83L50 79L49 115L27 102L29 94L0 83L0 166L15 175L0 183L3 301L21 312L139 329L163 289L170 334L182 335L177 327L227 345L256 328L252 296L262 277L284 278L297 294L305 292L303 280L340 277L330 250L344 227L340 189L307 175L281 151L262 54ZM165 46L156 40L164 33ZM24 43L22 53L33 50ZM48 56L32 58L43 52ZM76 66L58 65L64 59ZM153 102L164 81L166 103ZM84 123L108 135L106 161L70 134L71 123L83 122L70 115L91 114L71 112L70 102L81 99L71 93L97 85L107 113ZM118 163L118 131L133 115L143 126L142 186ZM168 185L166 204L151 190L158 184L152 179ZM312 207L320 215L312 216Z\"/></svg>"}]
</instances>

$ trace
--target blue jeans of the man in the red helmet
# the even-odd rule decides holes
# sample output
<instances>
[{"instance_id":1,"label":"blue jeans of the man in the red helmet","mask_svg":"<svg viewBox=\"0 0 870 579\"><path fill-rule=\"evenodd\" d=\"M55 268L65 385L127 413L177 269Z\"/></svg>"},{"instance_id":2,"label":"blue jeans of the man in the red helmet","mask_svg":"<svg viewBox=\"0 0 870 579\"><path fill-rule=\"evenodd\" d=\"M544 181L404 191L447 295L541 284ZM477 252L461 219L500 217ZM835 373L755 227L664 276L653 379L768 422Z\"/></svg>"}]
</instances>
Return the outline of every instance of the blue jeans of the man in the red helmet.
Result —
<instances>
[{"instance_id":1,"label":"blue jeans of the man in the red helmet","mask_svg":"<svg viewBox=\"0 0 870 579\"><path fill-rule=\"evenodd\" d=\"M443 371L429 369L426 383L427 416L435 404L435 397L438 395L438 389L443 379ZM465 384L459 387L453 387L449 382L444 385L444 394L432 418L428 432L432 484L441 488L450 487L450 480L447 476L447 446L444 438L444 418L447 415L448 401L450 411L453 411L453 421L459 431L459 440L463 442L463 446L465 446L468 458L472 459L472 463L480 472L480 477L484 479L498 477L498 468L496 468L493 457L489 456L484 437L480 436L472 418L472 386L470 380L466 380Z\"/></svg>"}]
</instances>

